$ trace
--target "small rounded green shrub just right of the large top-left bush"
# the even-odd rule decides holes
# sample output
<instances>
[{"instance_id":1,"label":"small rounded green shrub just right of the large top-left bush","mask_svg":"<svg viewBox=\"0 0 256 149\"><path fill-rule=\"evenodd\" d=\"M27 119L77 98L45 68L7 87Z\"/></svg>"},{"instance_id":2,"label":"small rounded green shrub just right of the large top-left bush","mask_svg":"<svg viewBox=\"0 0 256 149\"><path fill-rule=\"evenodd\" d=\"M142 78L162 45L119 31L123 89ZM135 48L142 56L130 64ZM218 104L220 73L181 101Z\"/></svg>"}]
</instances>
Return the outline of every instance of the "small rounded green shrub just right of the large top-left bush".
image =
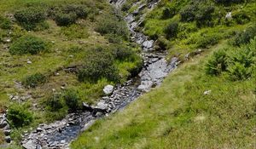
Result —
<instances>
[{"instance_id":1,"label":"small rounded green shrub just right of the large top-left bush","mask_svg":"<svg viewBox=\"0 0 256 149\"><path fill-rule=\"evenodd\" d=\"M69 13L69 14L58 13L55 15L55 22L58 26L69 26L76 22L77 17L78 16L75 13Z\"/></svg>"}]
</instances>

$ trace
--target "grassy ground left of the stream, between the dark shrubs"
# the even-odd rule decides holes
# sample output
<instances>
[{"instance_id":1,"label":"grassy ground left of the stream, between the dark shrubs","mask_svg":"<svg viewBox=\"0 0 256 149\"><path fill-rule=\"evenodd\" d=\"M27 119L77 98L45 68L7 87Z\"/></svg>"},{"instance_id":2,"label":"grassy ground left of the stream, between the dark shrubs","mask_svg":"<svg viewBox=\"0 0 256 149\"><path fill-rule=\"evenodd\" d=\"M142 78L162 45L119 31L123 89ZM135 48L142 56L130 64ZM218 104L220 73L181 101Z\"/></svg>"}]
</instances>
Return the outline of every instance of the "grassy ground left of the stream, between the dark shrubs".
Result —
<instances>
[{"instance_id":1,"label":"grassy ground left of the stream, between the dark shrubs","mask_svg":"<svg viewBox=\"0 0 256 149\"><path fill-rule=\"evenodd\" d=\"M23 9L28 4L39 5L42 7L48 7L58 4L74 4L85 3L90 6L95 12L102 11L102 14L108 14L110 7L104 1L88 0L86 2L81 0L0 0L0 13L3 16L9 16L14 14L16 10ZM47 9L47 8L46 8ZM61 86L65 85L67 89L75 89L79 92L79 96L86 102L93 103L101 95L103 95L102 89L105 85L111 83L106 79L99 80L97 83L79 83L77 76L73 73L67 73L62 70L66 66L80 65L84 56L88 50L95 49L102 46L108 48L112 46L112 43L108 43L108 39L101 36L98 32L95 32L96 21L101 19L102 14L90 14L86 20L79 20L76 25L70 27L56 26L55 21L47 20L49 29L38 32L26 32L15 22L13 22L12 35L10 38L13 41L24 34L30 34L32 36L40 37L44 41L49 42L49 52L42 54L24 54L24 55L11 55L6 47L9 47L11 43L0 42L0 112L6 110L7 106L13 100L9 100L9 95L32 95L32 99L26 100L30 105L34 115L34 121L31 125L26 126L24 129L30 127L36 127L38 123L46 123L47 119L53 120L51 117L47 117L42 110L42 101L48 95L52 94L52 89L61 91ZM8 32L0 29L2 32ZM65 35L65 32L69 32ZM81 34L82 33L82 34ZM85 36L84 36L85 35ZM77 37L73 37L77 36ZM9 37L6 37L9 38ZM125 44L128 42L124 42ZM82 50L72 51L73 47L82 48ZM27 64L27 60L31 60L32 64ZM119 68L119 74L122 76L122 81L129 75L128 70L136 65L131 61L119 61L115 62L115 65ZM15 81L21 81L25 77L41 72L48 77L47 83L39 85L35 89L26 89L24 87L16 87ZM60 75L55 75L58 72ZM39 108L35 108L32 105L37 105ZM20 139L20 135L24 129L13 129L12 139ZM2 132L0 132L2 133ZM0 137L0 144L2 143Z\"/></svg>"}]
</instances>

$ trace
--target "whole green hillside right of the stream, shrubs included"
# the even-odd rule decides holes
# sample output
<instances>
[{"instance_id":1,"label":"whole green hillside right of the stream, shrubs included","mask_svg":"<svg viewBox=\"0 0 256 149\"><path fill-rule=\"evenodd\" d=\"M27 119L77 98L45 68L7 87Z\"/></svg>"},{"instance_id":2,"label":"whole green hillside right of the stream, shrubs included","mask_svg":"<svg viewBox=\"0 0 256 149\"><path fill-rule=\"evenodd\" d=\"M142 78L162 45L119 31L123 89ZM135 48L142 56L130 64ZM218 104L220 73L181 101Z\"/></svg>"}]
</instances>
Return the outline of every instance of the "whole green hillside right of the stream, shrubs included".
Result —
<instances>
[{"instance_id":1,"label":"whole green hillside right of the stream, shrubs included","mask_svg":"<svg viewBox=\"0 0 256 149\"><path fill-rule=\"evenodd\" d=\"M121 9L137 15L135 2ZM183 64L72 148L255 148L255 2L166 0L143 8L137 30Z\"/></svg>"}]
</instances>

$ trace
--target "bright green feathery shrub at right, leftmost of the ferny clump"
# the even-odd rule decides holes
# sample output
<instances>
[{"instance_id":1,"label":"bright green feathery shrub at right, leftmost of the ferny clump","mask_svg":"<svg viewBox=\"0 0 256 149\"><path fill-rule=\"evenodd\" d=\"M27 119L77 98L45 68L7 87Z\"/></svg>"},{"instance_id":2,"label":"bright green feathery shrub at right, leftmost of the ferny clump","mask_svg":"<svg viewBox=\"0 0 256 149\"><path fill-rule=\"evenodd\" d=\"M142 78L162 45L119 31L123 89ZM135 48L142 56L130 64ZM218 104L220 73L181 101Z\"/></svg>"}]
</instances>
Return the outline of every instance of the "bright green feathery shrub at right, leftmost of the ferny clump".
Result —
<instances>
[{"instance_id":1,"label":"bright green feathery shrub at right, leftmost of the ferny clump","mask_svg":"<svg viewBox=\"0 0 256 149\"><path fill-rule=\"evenodd\" d=\"M228 66L227 54L224 50L214 52L210 60L207 61L206 72L208 75L219 75L226 71Z\"/></svg>"}]
</instances>

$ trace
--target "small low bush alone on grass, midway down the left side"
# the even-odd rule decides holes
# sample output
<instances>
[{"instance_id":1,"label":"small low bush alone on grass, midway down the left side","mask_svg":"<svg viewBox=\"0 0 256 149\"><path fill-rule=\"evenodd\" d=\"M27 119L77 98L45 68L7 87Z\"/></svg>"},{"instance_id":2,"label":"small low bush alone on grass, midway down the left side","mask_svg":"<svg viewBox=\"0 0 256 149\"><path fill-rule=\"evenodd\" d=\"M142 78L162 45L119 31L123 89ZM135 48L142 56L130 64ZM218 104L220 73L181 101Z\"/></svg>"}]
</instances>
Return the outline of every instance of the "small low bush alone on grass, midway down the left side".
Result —
<instances>
[{"instance_id":1,"label":"small low bush alone on grass, midway down the left side","mask_svg":"<svg viewBox=\"0 0 256 149\"><path fill-rule=\"evenodd\" d=\"M26 88L36 88L39 84L45 83L46 77L41 73L35 73L31 76L25 77L22 81L22 84Z\"/></svg>"}]
</instances>

